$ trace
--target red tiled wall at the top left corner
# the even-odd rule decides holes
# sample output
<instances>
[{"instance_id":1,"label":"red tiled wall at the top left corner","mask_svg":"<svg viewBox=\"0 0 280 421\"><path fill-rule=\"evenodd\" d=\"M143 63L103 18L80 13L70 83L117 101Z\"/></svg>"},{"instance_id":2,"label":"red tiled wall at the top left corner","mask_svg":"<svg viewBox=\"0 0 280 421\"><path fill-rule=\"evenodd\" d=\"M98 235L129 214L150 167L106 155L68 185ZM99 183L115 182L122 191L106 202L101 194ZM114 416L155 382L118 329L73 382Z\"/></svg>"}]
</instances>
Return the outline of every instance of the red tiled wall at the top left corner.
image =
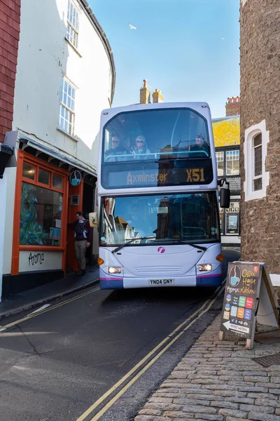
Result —
<instances>
[{"instance_id":1,"label":"red tiled wall at the top left corner","mask_svg":"<svg viewBox=\"0 0 280 421\"><path fill-rule=\"evenodd\" d=\"M20 0L0 0L0 142L12 129L20 39Z\"/></svg>"}]
</instances>

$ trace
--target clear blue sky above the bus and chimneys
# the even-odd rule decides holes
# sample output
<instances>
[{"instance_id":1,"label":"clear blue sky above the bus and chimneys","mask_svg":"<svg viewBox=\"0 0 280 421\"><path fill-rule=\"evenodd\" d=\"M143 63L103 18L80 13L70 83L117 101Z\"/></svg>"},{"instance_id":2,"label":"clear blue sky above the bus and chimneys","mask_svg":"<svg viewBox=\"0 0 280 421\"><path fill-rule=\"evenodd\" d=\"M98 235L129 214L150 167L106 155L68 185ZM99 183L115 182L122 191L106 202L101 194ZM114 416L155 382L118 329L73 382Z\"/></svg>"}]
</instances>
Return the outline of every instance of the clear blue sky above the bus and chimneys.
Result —
<instances>
[{"instance_id":1,"label":"clear blue sky above the bus and chimneys","mask_svg":"<svg viewBox=\"0 0 280 421\"><path fill-rule=\"evenodd\" d=\"M225 116L239 95L239 0L87 1L113 51L113 107L139 102L147 79L165 102L205 101Z\"/></svg>"}]
</instances>

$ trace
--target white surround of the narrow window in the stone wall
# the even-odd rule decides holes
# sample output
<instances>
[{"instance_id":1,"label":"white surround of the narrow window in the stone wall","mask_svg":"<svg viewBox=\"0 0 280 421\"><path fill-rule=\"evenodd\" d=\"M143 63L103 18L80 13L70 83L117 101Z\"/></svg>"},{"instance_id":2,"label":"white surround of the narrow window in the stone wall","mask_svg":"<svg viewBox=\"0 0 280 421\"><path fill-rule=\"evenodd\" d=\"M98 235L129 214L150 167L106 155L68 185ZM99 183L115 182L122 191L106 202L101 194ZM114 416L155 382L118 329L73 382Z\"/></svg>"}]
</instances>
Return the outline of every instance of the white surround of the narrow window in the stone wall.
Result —
<instances>
[{"instance_id":1,"label":"white surround of the narrow window in the stone wall","mask_svg":"<svg viewBox=\"0 0 280 421\"><path fill-rule=\"evenodd\" d=\"M262 189L254 190L254 165L253 160L253 139L259 133L262 134ZM245 201L262 199L267 194L269 185L269 171L265 171L265 157L267 156L267 144L269 142L269 131L266 130L265 120L246 129L244 133L244 198Z\"/></svg>"}]
</instances>

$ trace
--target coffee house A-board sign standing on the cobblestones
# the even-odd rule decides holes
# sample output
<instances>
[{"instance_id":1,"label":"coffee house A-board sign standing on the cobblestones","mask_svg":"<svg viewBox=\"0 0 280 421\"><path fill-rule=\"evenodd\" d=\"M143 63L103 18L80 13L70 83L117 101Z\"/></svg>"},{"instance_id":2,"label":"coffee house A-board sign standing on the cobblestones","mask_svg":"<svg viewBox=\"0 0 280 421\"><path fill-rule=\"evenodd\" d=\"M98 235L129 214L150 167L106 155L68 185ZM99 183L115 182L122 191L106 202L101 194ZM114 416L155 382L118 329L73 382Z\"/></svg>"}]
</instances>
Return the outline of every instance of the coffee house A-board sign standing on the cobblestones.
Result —
<instances>
[{"instance_id":1,"label":"coffee house A-board sign standing on the cobblestones","mask_svg":"<svg viewBox=\"0 0 280 421\"><path fill-rule=\"evenodd\" d=\"M230 332L253 347L255 322L279 328L278 303L265 263L232 262L228 265L220 340Z\"/></svg>"}]
</instances>

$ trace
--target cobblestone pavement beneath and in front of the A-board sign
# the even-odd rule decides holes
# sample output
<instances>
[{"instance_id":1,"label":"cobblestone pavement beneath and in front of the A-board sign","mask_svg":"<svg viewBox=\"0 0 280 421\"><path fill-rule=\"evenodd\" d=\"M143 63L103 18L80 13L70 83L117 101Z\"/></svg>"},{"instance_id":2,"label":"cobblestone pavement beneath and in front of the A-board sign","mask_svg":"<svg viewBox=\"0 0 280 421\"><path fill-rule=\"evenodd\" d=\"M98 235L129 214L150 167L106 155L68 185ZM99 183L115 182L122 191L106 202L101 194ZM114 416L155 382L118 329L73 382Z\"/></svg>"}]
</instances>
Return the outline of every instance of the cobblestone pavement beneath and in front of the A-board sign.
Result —
<instances>
[{"instance_id":1,"label":"cobblestone pavement beneath and in front of the A-board sign","mask_svg":"<svg viewBox=\"0 0 280 421\"><path fill-rule=\"evenodd\" d=\"M218 316L134 421L280 421L280 365L253 361L280 353L280 342L251 350L238 336L221 342L220 323Z\"/></svg>"}]
</instances>

